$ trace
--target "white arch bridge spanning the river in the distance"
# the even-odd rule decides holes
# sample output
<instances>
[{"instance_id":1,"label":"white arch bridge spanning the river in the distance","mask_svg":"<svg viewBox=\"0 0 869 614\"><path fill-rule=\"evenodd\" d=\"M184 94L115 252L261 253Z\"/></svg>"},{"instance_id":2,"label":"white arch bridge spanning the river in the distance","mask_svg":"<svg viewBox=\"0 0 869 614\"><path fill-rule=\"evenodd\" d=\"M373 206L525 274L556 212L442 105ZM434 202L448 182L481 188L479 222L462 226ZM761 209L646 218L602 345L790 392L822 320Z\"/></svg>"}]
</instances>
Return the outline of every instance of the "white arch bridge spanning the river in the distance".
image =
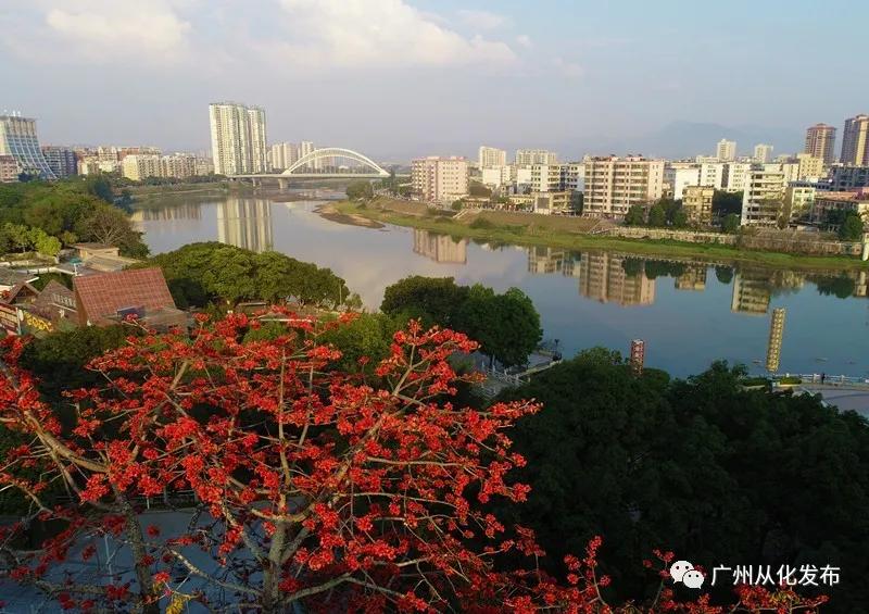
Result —
<instances>
[{"instance_id":1,"label":"white arch bridge spanning the river in the distance","mask_svg":"<svg viewBox=\"0 0 869 614\"><path fill-rule=\"evenodd\" d=\"M332 168L316 171L316 167L323 162L335 162L336 160L352 162L353 167L333 165ZM312 168L314 170L312 171ZM261 179L277 179L281 189L287 187L290 179L380 179L382 177L389 177L389 172L381 168L374 160L358 151L340 147L315 149L293 162L292 166L282 173L229 175L230 179L252 179L254 185Z\"/></svg>"}]
</instances>

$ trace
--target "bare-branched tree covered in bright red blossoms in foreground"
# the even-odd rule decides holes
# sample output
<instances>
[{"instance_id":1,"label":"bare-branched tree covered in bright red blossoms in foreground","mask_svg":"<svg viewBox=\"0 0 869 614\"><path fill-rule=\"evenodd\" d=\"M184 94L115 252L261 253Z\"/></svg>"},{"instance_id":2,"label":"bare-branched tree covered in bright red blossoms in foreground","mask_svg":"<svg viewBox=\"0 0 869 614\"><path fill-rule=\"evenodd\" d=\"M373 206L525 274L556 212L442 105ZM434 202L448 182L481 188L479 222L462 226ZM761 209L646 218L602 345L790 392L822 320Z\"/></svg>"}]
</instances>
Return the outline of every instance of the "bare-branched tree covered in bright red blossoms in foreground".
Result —
<instances>
[{"instance_id":1,"label":"bare-branched tree covered in bright red blossoms in foreground","mask_svg":"<svg viewBox=\"0 0 869 614\"><path fill-rule=\"evenodd\" d=\"M473 341L412 323L387 359L350 374L318 341L341 322L267 317L286 329L245 340L261 321L236 315L201 317L192 336L130 337L90 364L104 385L67 391L71 424L17 366L22 342L8 340L0 421L28 442L0 480L34 512L0 535L3 574L83 611L613 611L595 573L600 539L566 560L559 586L536 569L543 552L529 530L481 511L493 497L525 499L528 486L507 479L524 460L504 431L540 408L454 406L455 385L470 377L448 359ZM46 500L59 488L65 505ZM143 500L162 511L144 513ZM63 529L39 550L16 549L35 521ZM64 572L97 556L98 538L127 567L87 581ZM498 571L508 552L531 571ZM816 605L792 592L746 599L771 611ZM669 590L651 607L719 611L678 604Z\"/></svg>"}]
</instances>

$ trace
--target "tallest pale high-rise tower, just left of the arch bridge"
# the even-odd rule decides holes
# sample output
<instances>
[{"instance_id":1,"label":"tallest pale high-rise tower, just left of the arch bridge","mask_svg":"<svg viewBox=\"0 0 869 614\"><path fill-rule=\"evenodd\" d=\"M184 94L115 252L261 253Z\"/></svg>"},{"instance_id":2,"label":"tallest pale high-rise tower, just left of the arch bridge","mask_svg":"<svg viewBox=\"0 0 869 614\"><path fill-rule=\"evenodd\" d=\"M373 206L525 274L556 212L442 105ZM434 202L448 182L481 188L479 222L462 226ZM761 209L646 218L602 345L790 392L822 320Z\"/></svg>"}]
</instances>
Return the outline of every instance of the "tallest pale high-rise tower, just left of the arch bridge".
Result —
<instances>
[{"instance_id":1,"label":"tallest pale high-rise tower, just left of the arch bridge","mask_svg":"<svg viewBox=\"0 0 869 614\"><path fill-rule=\"evenodd\" d=\"M218 175L266 173L265 111L235 102L209 105L214 172Z\"/></svg>"}]
</instances>

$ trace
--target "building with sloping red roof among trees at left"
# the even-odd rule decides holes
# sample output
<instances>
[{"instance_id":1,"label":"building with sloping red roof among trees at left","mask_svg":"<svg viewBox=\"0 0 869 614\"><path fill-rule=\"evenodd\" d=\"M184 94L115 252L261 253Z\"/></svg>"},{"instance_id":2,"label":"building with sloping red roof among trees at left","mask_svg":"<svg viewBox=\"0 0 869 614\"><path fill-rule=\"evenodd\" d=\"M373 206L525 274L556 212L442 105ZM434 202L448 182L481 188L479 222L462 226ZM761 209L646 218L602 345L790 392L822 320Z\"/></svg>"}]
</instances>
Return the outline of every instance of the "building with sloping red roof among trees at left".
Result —
<instances>
[{"instance_id":1,"label":"building with sloping red roof among trees at left","mask_svg":"<svg viewBox=\"0 0 869 614\"><path fill-rule=\"evenodd\" d=\"M73 291L81 326L110 326L129 315L159 329L187 325L160 268L83 275L73 279Z\"/></svg>"}]
</instances>

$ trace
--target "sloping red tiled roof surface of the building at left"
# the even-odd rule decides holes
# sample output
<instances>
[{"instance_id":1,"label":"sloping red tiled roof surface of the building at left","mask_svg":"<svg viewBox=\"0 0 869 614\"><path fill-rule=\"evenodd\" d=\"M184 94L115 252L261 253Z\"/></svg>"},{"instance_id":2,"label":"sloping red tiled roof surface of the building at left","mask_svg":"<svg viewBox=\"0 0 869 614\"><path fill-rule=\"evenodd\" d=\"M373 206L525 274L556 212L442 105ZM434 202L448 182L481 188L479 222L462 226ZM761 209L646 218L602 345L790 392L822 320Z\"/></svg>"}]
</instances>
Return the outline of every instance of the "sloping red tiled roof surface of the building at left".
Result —
<instances>
[{"instance_id":1,"label":"sloping red tiled roof surface of the building at left","mask_svg":"<svg viewBox=\"0 0 869 614\"><path fill-rule=\"evenodd\" d=\"M175 309L160 268L135 268L85 275L73 279L79 316L96 323L125 308ZM81 313L84 312L84 314Z\"/></svg>"}]
</instances>

